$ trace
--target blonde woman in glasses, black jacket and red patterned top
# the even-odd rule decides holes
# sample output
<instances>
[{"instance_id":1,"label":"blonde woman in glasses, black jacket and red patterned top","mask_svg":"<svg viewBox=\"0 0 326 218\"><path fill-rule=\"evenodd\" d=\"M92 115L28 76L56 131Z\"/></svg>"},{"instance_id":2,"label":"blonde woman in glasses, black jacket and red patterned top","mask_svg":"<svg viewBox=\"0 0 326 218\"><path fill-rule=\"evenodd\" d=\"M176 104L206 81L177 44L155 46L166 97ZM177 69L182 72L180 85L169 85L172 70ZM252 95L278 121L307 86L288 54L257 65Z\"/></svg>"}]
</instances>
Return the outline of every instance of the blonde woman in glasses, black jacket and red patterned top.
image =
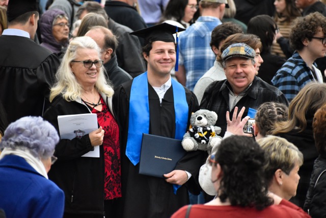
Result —
<instances>
[{"instance_id":1,"label":"blonde woman in glasses, black jacket and red patterned top","mask_svg":"<svg viewBox=\"0 0 326 218\"><path fill-rule=\"evenodd\" d=\"M100 53L88 36L70 41L57 83L51 88L51 105L43 115L58 132L58 115L97 115L97 130L61 139L56 147L58 161L49 178L65 191L65 217L103 217L108 210L110 217L116 217L114 203L121 197L119 127L111 102L114 91L105 79ZM97 146L99 158L82 157Z\"/></svg>"}]
</instances>

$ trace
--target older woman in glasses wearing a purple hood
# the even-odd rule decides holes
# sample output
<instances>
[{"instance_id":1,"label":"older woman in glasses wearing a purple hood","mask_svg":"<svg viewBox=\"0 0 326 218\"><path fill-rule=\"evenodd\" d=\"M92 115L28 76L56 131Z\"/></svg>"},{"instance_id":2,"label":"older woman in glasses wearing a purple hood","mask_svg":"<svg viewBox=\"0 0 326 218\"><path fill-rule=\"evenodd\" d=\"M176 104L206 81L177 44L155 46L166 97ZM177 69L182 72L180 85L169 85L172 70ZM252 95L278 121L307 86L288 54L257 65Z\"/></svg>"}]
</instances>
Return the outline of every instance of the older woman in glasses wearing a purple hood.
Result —
<instances>
[{"instance_id":1,"label":"older woman in glasses wearing a purple hood","mask_svg":"<svg viewBox=\"0 0 326 218\"><path fill-rule=\"evenodd\" d=\"M69 20L59 9L45 11L40 19L41 45L46 49L61 53L68 46Z\"/></svg>"}]
</instances>

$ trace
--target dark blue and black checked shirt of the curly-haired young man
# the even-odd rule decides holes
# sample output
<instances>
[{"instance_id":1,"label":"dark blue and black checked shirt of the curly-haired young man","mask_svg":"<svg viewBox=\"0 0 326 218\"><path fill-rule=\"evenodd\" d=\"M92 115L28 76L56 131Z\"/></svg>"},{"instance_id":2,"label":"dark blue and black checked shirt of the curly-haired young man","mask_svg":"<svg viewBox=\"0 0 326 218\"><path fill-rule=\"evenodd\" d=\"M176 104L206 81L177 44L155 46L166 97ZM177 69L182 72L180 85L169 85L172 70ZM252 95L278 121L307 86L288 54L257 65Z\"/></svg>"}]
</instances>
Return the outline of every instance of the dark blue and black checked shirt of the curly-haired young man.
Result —
<instances>
[{"instance_id":1,"label":"dark blue and black checked shirt of the curly-haired young man","mask_svg":"<svg viewBox=\"0 0 326 218\"><path fill-rule=\"evenodd\" d=\"M317 66L314 63L315 66ZM317 74L318 72L316 72ZM294 52L283 66L276 72L271 83L279 88L289 102L309 82L316 81L311 69L301 56Z\"/></svg>"}]
</instances>

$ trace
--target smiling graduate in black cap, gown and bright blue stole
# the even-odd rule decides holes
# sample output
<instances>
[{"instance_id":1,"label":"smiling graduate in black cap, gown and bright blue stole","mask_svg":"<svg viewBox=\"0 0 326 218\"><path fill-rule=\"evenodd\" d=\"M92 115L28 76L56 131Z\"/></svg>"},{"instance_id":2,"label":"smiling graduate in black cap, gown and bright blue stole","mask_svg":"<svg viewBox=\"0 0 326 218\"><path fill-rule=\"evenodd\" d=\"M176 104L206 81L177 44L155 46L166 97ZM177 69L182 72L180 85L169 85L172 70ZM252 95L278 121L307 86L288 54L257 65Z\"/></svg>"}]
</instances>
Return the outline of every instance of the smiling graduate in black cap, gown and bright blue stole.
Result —
<instances>
[{"instance_id":1,"label":"smiling graduate in black cap, gown and bright blue stole","mask_svg":"<svg viewBox=\"0 0 326 218\"><path fill-rule=\"evenodd\" d=\"M161 23L130 33L145 39L147 71L117 87L113 97L121 133L124 218L170 217L189 203L188 190L199 194L196 181L204 161L202 151L186 153L174 171L162 178L139 174L142 134L182 139L191 113L198 110L195 94L170 76L171 69L178 66L173 34L183 30Z\"/></svg>"}]
</instances>

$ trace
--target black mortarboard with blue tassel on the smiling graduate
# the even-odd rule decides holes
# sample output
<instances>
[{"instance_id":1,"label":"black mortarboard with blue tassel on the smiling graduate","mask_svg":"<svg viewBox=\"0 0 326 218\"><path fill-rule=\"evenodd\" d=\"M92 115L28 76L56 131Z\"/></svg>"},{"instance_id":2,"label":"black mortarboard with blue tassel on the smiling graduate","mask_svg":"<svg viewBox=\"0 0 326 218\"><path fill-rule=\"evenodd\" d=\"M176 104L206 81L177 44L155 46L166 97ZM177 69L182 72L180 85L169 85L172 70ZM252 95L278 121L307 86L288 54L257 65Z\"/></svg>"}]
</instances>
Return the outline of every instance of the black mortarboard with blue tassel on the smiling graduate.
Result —
<instances>
[{"instance_id":1,"label":"black mortarboard with blue tassel on the smiling graduate","mask_svg":"<svg viewBox=\"0 0 326 218\"><path fill-rule=\"evenodd\" d=\"M144 45L147 45L148 43L154 41L175 42L177 45L177 51L176 51L177 58L175 64L175 71L178 71L178 59L179 59L178 58L179 57L178 33L182 31L185 31L185 29L163 22L160 23L159 25L134 31L130 34L144 38L145 39ZM176 40L174 39L173 34L176 34Z\"/></svg>"}]
</instances>

